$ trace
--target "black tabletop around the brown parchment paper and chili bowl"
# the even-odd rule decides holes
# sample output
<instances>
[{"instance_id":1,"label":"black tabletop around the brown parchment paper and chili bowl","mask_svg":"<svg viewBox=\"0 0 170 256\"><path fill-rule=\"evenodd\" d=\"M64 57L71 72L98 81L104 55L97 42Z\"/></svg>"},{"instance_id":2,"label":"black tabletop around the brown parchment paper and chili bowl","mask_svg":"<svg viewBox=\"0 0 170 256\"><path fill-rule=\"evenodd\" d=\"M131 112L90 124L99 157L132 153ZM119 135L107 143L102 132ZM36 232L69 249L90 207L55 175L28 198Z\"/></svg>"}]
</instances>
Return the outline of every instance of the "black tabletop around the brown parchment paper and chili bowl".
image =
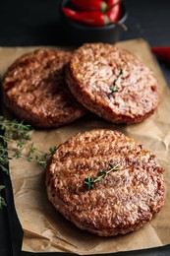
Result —
<instances>
[{"instance_id":1,"label":"black tabletop around the brown parchment paper and chili bowl","mask_svg":"<svg viewBox=\"0 0 170 256\"><path fill-rule=\"evenodd\" d=\"M69 45L62 36L59 12L60 0L1 0L0 1L0 46ZM151 46L170 46L170 1L169 0L125 0L129 11L126 22L128 32L121 40L142 37ZM170 85L168 64L159 61L160 68ZM2 100L2 99L0 99ZM2 179L2 177L0 177ZM8 181L10 186L10 181ZM12 188L9 188L9 190ZM10 193L10 191L9 191ZM10 208L11 207L11 208ZM17 237L17 226L10 234L8 219L10 211L0 211L0 256L14 255L15 244L11 235ZM11 210L12 209L12 210ZM15 240L14 240L15 243ZM114 255L170 255L170 245L135 252L121 252ZM16 255L16 254L15 254ZM36 255L21 252L18 255ZM47 255L47 254L37 254ZM57 255L51 253L50 255ZM69 254L65 254L69 255Z\"/></svg>"}]
</instances>

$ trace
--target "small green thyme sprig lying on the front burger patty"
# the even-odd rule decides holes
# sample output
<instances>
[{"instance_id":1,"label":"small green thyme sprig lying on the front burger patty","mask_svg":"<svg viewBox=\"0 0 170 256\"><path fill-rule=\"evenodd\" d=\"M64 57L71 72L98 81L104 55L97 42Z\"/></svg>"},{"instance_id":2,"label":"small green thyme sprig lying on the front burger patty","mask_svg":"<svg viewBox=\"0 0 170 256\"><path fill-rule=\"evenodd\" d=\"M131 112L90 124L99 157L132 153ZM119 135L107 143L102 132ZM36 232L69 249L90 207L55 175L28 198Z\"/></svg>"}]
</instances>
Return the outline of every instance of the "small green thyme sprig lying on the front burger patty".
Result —
<instances>
[{"instance_id":1,"label":"small green thyme sprig lying on the front burger patty","mask_svg":"<svg viewBox=\"0 0 170 256\"><path fill-rule=\"evenodd\" d=\"M85 178L85 186L86 186L86 190L90 190L90 188L91 187L93 187L93 185L96 183L96 182L98 182L98 181L100 181L102 178L104 178L107 174L109 174L111 171L116 171L116 170L118 170L118 166L117 165L113 165L112 163L108 163L108 165L109 165L109 167L110 167L110 169L108 169L108 170L105 170L105 169L103 169L103 170L101 170L100 172L99 172L99 175L96 177L96 178L91 178L90 176L87 176L86 178Z\"/></svg>"}]
</instances>

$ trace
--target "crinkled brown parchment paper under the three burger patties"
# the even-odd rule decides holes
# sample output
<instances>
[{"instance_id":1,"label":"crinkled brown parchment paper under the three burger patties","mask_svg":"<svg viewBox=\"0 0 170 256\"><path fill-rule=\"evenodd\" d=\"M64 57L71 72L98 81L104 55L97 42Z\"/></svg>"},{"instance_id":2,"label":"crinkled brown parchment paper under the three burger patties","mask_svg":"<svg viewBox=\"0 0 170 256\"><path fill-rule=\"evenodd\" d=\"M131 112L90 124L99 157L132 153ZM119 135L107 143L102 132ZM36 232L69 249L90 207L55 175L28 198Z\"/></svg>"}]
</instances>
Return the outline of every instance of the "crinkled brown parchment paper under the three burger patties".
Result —
<instances>
[{"instance_id":1,"label":"crinkled brown parchment paper under the three burger patties","mask_svg":"<svg viewBox=\"0 0 170 256\"><path fill-rule=\"evenodd\" d=\"M11 160L10 172L15 205L25 231L23 250L32 252L74 252L100 254L155 247L170 243L170 92L148 44L142 39L118 43L136 54L150 67L158 79L160 104L155 113L140 124L113 125L87 114L84 118L57 129L33 130L32 141L43 152L58 146L78 132L92 128L118 129L134 137L152 153L165 168L166 200L163 209L141 229L116 237L98 237L80 230L56 212L48 201L44 170L25 160ZM31 48L0 48L0 74L21 54ZM1 99L2 100L2 99ZM6 112L6 115L9 115Z\"/></svg>"}]
</instances>

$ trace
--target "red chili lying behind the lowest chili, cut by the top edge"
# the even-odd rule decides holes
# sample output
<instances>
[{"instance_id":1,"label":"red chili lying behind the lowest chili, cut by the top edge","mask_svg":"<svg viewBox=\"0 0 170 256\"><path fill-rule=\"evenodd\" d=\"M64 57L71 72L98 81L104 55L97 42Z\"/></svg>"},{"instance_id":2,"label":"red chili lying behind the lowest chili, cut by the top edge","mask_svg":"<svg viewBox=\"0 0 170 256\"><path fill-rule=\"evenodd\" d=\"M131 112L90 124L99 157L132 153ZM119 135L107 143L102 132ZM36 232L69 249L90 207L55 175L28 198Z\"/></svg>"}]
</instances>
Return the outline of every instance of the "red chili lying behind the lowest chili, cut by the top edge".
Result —
<instances>
[{"instance_id":1,"label":"red chili lying behind the lowest chili, cut by the top edge","mask_svg":"<svg viewBox=\"0 0 170 256\"><path fill-rule=\"evenodd\" d=\"M72 4L81 11L105 12L107 4L103 0L70 0Z\"/></svg>"}]
</instances>

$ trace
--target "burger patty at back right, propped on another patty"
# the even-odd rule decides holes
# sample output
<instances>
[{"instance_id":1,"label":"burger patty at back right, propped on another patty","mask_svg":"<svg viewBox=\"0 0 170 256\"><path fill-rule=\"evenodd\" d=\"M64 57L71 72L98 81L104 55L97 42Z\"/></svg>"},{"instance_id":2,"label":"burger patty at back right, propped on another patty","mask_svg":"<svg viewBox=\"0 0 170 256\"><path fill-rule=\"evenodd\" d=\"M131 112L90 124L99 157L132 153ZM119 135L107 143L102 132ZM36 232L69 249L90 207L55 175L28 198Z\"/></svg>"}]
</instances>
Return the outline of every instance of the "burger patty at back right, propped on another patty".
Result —
<instances>
[{"instance_id":1,"label":"burger patty at back right, propped on another patty","mask_svg":"<svg viewBox=\"0 0 170 256\"><path fill-rule=\"evenodd\" d=\"M110 44L78 48L66 82L87 109L113 123L141 122L158 104L152 72L130 52Z\"/></svg>"}]
</instances>

